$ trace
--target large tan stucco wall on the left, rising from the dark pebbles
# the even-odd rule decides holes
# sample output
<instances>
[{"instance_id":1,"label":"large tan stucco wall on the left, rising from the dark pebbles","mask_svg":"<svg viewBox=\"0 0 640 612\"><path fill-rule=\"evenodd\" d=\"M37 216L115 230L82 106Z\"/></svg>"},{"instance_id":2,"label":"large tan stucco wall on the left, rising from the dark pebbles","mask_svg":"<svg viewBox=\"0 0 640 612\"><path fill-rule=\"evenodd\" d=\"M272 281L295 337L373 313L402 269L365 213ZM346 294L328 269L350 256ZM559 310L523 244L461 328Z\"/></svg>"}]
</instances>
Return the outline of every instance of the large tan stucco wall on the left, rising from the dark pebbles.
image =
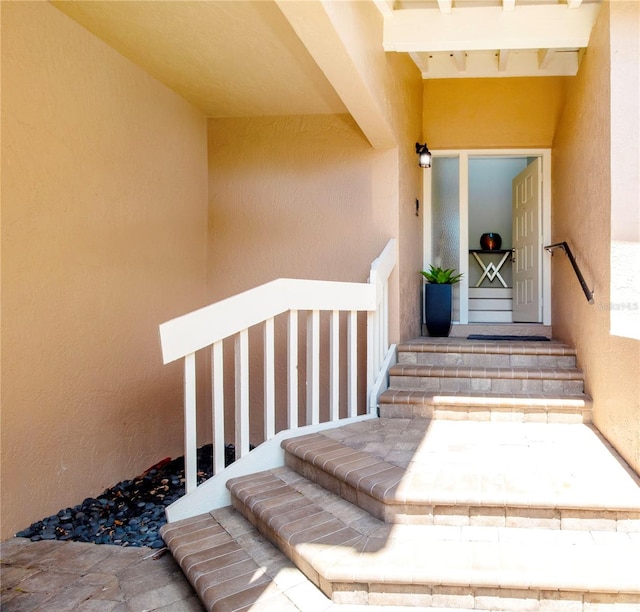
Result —
<instances>
[{"instance_id":1,"label":"large tan stucco wall on the left, rising from the dark pebbles","mask_svg":"<svg viewBox=\"0 0 640 612\"><path fill-rule=\"evenodd\" d=\"M207 144L53 6L1 10L5 538L182 454L158 324L204 303Z\"/></svg>"}]
</instances>

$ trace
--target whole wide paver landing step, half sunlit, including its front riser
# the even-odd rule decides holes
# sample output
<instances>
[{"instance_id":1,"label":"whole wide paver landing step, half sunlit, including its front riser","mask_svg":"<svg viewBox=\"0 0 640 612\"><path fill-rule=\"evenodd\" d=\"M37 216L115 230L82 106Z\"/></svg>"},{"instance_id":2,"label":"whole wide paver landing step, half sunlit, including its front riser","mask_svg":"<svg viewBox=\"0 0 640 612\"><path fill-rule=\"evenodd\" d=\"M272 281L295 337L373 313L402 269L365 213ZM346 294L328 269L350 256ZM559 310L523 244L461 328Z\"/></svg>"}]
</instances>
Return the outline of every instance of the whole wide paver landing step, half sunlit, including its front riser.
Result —
<instances>
[{"instance_id":1,"label":"whole wide paver landing step, half sunlit, including its front riser","mask_svg":"<svg viewBox=\"0 0 640 612\"><path fill-rule=\"evenodd\" d=\"M395 454L362 433L371 426L358 429L342 440L330 436L344 431L285 440L286 464L390 523L640 533L640 480L611 463L610 449L586 426L416 419L405 451ZM564 436L576 454L565 456ZM576 459L587 452L588 462ZM594 473L605 461L610 469Z\"/></svg>"}]
</instances>

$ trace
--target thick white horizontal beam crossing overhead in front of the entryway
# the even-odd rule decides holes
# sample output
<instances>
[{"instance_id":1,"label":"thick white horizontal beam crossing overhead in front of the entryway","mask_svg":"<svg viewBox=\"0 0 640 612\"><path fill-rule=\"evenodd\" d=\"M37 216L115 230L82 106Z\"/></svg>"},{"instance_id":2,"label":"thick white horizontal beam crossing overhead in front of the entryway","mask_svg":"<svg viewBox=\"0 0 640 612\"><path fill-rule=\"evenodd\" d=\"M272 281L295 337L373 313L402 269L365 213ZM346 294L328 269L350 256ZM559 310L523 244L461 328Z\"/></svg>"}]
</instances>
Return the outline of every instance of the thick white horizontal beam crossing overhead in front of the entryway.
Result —
<instances>
[{"instance_id":1,"label":"thick white horizontal beam crossing overhead in front of the entryway","mask_svg":"<svg viewBox=\"0 0 640 612\"><path fill-rule=\"evenodd\" d=\"M298 3L293 3L298 4ZM305 4L305 3L301 3ZM385 51L579 48L589 44L599 4L396 10L384 17Z\"/></svg>"}]
</instances>

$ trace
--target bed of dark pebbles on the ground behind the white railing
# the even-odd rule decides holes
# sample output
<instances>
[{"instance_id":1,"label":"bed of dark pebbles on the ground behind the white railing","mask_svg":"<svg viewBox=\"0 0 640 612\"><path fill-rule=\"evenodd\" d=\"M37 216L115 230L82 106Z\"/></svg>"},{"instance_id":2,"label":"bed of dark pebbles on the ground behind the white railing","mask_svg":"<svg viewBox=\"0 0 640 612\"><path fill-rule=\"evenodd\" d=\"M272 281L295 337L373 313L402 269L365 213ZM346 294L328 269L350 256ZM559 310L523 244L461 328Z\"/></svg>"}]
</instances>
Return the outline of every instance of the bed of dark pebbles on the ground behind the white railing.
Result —
<instances>
[{"instance_id":1,"label":"bed of dark pebbles on the ground behind the white railing","mask_svg":"<svg viewBox=\"0 0 640 612\"><path fill-rule=\"evenodd\" d=\"M225 463L235 460L232 444ZM212 446L198 449L198 484L212 476ZM120 546L162 548L158 530L167 522L165 508L184 495L184 457L164 459L132 480L123 480L96 498L63 508L32 523L16 536L38 540L72 540Z\"/></svg>"}]
</instances>

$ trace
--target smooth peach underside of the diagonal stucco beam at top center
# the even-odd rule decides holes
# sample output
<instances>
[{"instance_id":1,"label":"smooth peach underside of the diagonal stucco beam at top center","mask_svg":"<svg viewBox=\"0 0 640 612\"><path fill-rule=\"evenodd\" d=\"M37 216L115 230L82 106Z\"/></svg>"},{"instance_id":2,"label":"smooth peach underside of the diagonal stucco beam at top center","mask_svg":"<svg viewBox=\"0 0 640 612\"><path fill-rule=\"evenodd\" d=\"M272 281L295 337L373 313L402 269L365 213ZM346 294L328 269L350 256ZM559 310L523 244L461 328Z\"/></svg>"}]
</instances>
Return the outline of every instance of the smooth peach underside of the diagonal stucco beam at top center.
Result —
<instances>
[{"instance_id":1,"label":"smooth peach underside of the diagonal stucco beam at top center","mask_svg":"<svg viewBox=\"0 0 640 612\"><path fill-rule=\"evenodd\" d=\"M349 52L323 3L276 0L276 4L371 146L396 147L393 131L364 78L362 66Z\"/></svg>"}]
</instances>

